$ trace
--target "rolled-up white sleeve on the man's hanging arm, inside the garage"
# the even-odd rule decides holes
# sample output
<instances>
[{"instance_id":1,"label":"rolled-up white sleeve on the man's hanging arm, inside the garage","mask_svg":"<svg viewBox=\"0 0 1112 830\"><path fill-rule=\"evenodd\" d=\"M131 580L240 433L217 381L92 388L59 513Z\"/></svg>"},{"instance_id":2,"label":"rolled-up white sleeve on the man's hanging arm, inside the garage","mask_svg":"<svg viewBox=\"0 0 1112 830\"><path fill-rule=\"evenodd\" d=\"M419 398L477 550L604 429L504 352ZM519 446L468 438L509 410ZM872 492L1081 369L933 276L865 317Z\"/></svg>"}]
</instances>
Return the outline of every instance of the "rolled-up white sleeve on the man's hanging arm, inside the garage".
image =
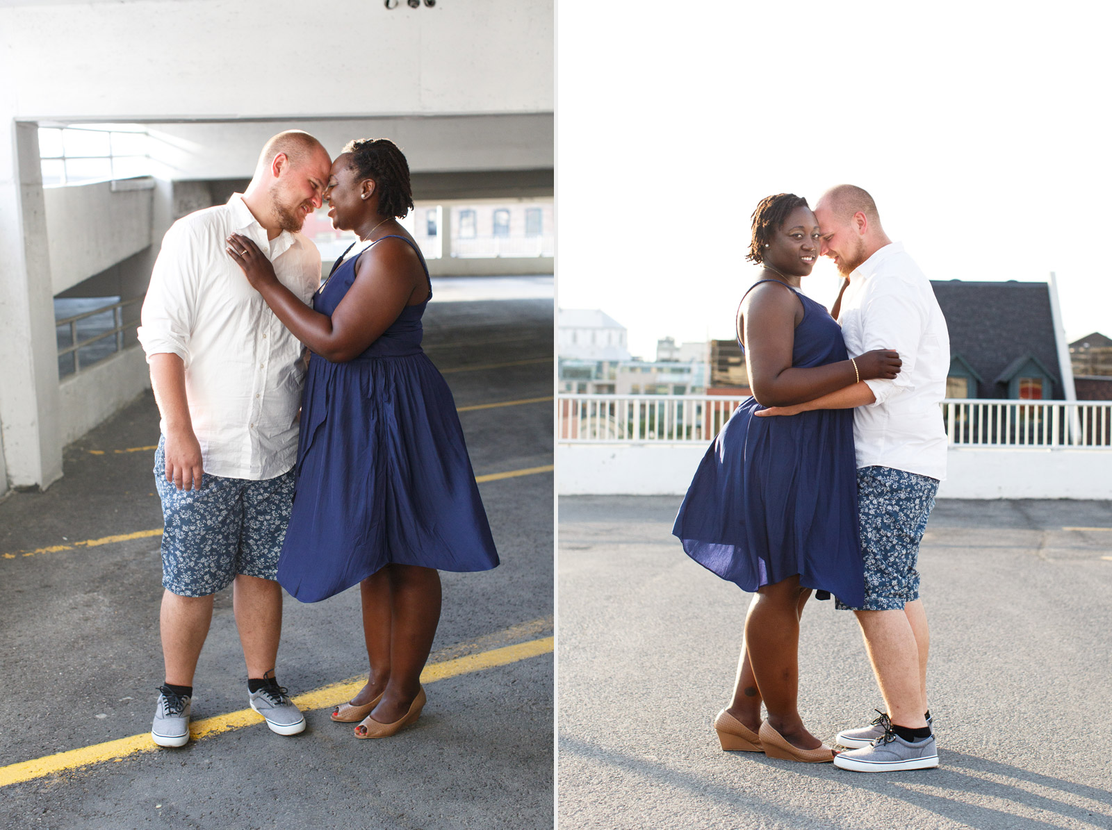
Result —
<instances>
[{"instance_id":1,"label":"rolled-up white sleeve on the man's hanging arm, inside the garage","mask_svg":"<svg viewBox=\"0 0 1112 830\"><path fill-rule=\"evenodd\" d=\"M189 366L189 340L197 309L198 272L186 222L170 226L150 274L137 332L150 362L151 354L177 354Z\"/></svg>"}]
</instances>

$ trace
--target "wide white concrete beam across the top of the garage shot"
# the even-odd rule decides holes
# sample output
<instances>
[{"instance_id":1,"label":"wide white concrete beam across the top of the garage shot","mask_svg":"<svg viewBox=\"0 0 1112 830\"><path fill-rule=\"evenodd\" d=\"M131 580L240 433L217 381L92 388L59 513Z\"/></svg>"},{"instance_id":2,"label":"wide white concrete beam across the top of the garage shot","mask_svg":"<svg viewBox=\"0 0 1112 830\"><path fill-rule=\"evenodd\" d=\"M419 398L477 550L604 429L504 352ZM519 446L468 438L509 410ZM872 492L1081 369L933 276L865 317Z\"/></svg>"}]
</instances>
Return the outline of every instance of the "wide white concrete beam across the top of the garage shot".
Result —
<instances>
[{"instance_id":1,"label":"wide white concrete beam across the top of the garage shot","mask_svg":"<svg viewBox=\"0 0 1112 830\"><path fill-rule=\"evenodd\" d=\"M554 0L16 6L0 77L27 119L552 112L554 20Z\"/></svg>"}]
</instances>

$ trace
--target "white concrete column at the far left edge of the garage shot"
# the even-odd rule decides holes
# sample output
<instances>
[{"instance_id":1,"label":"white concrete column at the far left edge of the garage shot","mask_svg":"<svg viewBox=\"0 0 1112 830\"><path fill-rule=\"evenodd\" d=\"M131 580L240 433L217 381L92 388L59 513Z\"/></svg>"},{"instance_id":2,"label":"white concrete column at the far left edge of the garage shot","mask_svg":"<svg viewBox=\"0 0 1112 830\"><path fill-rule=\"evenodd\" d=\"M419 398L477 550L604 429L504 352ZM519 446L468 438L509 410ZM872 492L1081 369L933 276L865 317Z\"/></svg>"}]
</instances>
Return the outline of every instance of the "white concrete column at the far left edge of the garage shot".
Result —
<instances>
[{"instance_id":1,"label":"white concrete column at the far left edge of the garage shot","mask_svg":"<svg viewBox=\"0 0 1112 830\"><path fill-rule=\"evenodd\" d=\"M46 489L62 474L58 344L33 123L0 133L0 436L12 487Z\"/></svg>"}]
</instances>

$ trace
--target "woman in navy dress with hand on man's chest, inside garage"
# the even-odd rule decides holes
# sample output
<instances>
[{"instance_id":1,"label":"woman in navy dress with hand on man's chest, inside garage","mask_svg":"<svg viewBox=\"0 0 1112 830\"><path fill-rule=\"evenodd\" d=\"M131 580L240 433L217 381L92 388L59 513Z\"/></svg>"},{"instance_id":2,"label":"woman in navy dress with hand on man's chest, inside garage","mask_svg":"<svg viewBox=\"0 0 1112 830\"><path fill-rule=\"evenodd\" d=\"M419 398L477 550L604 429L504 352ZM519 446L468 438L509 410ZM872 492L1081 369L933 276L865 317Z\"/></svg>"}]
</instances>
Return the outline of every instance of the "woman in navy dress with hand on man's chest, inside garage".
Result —
<instances>
[{"instance_id":1,"label":"woman in navy dress with hand on man's chest, inside garage","mask_svg":"<svg viewBox=\"0 0 1112 830\"><path fill-rule=\"evenodd\" d=\"M385 738L425 704L437 571L488 570L498 554L451 392L420 348L433 289L396 221L414 207L405 156L386 139L348 143L325 199L363 247L337 261L311 309L249 239L232 234L228 252L312 352L278 581L304 602L359 584L370 672L332 720L361 719L356 737Z\"/></svg>"}]
</instances>

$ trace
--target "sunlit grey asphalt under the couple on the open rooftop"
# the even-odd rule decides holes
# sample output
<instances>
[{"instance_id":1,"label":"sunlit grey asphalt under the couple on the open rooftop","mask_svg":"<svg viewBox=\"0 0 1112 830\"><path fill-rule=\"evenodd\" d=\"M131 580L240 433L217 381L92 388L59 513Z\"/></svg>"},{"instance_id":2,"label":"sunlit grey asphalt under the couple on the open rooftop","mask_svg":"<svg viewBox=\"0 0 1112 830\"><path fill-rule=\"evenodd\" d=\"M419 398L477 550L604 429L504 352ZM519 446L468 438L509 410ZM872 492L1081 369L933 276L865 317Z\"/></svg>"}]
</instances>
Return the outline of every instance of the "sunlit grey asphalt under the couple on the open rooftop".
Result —
<instances>
[{"instance_id":1,"label":"sunlit grey asphalt under the couple on the open rooftop","mask_svg":"<svg viewBox=\"0 0 1112 830\"><path fill-rule=\"evenodd\" d=\"M559 500L558 826L1112 828L1112 503L939 502L921 552L941 766L723 752L749 594L672 537L678 497ZM811 600L800 711L883 708L853 616Z\"/></svg>"}]
</instances>

